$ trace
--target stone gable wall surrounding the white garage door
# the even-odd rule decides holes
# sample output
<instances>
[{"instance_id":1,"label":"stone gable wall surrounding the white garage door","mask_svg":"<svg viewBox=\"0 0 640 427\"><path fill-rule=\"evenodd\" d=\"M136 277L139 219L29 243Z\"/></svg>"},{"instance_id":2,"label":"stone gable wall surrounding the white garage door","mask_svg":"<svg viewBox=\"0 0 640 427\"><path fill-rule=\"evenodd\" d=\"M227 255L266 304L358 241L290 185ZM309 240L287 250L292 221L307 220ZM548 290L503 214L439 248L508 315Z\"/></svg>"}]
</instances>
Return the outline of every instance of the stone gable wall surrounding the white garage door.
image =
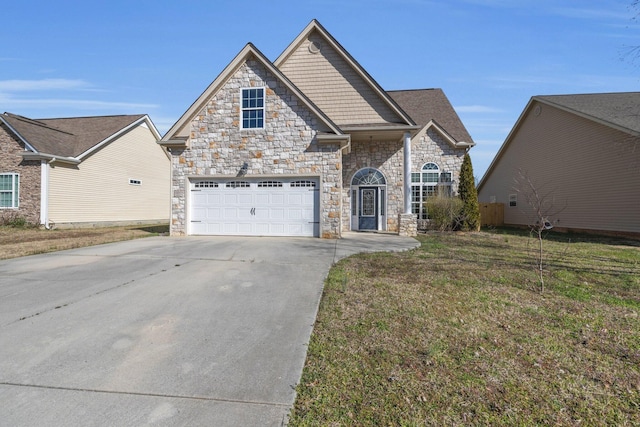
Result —
<instances>
[{"instance_id":1,"label":"stone gable wall surrounding the white garage door","mask_svg":"<svg viewBox=\"0 0 640 427\"><path fill-rule=\"evenodd\" d=\"M240 129L240 89L265 87L264 129ZM172 153L171 234L186 234L189 177L274 175L320 177L320 236L340 237L342 154L316 139L317 118L266 70L249 59L191 123L188 148Z\"/></svg>"}]
</instances>

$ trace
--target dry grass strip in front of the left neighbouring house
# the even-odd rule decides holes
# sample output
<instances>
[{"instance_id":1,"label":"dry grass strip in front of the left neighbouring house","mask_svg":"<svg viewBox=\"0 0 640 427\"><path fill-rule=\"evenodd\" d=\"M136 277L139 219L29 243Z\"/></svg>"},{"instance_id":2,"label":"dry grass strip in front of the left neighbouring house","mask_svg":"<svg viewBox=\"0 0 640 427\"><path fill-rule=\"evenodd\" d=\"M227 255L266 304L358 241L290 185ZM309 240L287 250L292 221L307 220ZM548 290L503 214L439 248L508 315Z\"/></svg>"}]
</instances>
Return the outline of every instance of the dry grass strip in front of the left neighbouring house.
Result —
<instances>
[{"instance_id":1,"label":"dry grass strip in front of the left neighbouring house","mask_svg":"<svg viewBox=\"0 0 640 427\"><path fill-rule=\"evenodd\" d=\"M167 231L167 226L56 230L36 227L0 227L0 259L156 236Z\"/></svg>"}]
</instances>

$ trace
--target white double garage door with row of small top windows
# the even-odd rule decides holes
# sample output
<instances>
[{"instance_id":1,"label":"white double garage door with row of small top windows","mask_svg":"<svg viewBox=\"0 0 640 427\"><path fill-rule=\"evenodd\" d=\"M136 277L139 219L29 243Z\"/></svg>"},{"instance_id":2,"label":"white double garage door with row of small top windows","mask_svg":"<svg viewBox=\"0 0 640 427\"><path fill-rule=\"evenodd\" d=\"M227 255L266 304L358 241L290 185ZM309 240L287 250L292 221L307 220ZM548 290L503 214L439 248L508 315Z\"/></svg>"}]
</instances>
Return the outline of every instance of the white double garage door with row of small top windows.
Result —
<instances>
[{"instance_id":1,"label":"white double garage door with row of small top windows","mask_svg":"<svg viewBox=\"0 0 640 427\"><path fill-rule=\"evenodd\" d=\"M189 234L319 236L317 178L192 180Z\"/></svg>"}]
</instances>

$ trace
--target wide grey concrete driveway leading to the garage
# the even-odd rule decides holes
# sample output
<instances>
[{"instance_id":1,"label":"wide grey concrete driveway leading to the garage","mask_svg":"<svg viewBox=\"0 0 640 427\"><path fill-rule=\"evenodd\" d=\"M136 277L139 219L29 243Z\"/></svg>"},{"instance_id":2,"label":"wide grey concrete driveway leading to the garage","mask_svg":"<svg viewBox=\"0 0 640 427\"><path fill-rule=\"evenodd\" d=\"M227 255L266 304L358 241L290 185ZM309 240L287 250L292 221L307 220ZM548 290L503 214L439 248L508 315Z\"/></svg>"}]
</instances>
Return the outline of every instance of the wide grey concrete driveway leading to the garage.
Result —
<instances>
[{"instance_id":1,"label":"wide grey concrete driveway leading to the garage","mask_svg":"<svg viewBox=\"0 0 640 427\"><path fill-rule=\"evenodd\" d=\"M417 245L154 237L0 261L0 425L282 425L332 263Z\"/></svg>"}]
</instances>

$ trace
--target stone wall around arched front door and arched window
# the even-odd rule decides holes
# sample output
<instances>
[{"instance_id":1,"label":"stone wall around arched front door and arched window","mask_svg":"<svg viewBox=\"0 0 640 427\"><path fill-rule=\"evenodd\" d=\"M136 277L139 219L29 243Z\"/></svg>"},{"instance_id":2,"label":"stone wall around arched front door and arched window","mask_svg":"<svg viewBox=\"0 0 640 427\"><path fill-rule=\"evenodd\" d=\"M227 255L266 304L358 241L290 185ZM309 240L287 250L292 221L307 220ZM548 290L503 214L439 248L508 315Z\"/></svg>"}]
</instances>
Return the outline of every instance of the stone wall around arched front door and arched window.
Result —
<instances>
[{"instance_id":1,"label":"stone wall around arched front door and arched window","mask_svg":"<svg viewBox=\"0 0 640 427\"><path fill-rule=\"evenodd\" d=\"M451 172L452 191L458 193L464 149L453 148L442 136L429 129L419 132L411 141L411 171L419 172L428 162ZM398 215L404 211L402 141L352 142L351 154L343 157L344 190L342 192L342 230L351 229L351 179L360 169L379 169L387 178L387 231L399 232Z\"/></svg>"}]
</instances>

